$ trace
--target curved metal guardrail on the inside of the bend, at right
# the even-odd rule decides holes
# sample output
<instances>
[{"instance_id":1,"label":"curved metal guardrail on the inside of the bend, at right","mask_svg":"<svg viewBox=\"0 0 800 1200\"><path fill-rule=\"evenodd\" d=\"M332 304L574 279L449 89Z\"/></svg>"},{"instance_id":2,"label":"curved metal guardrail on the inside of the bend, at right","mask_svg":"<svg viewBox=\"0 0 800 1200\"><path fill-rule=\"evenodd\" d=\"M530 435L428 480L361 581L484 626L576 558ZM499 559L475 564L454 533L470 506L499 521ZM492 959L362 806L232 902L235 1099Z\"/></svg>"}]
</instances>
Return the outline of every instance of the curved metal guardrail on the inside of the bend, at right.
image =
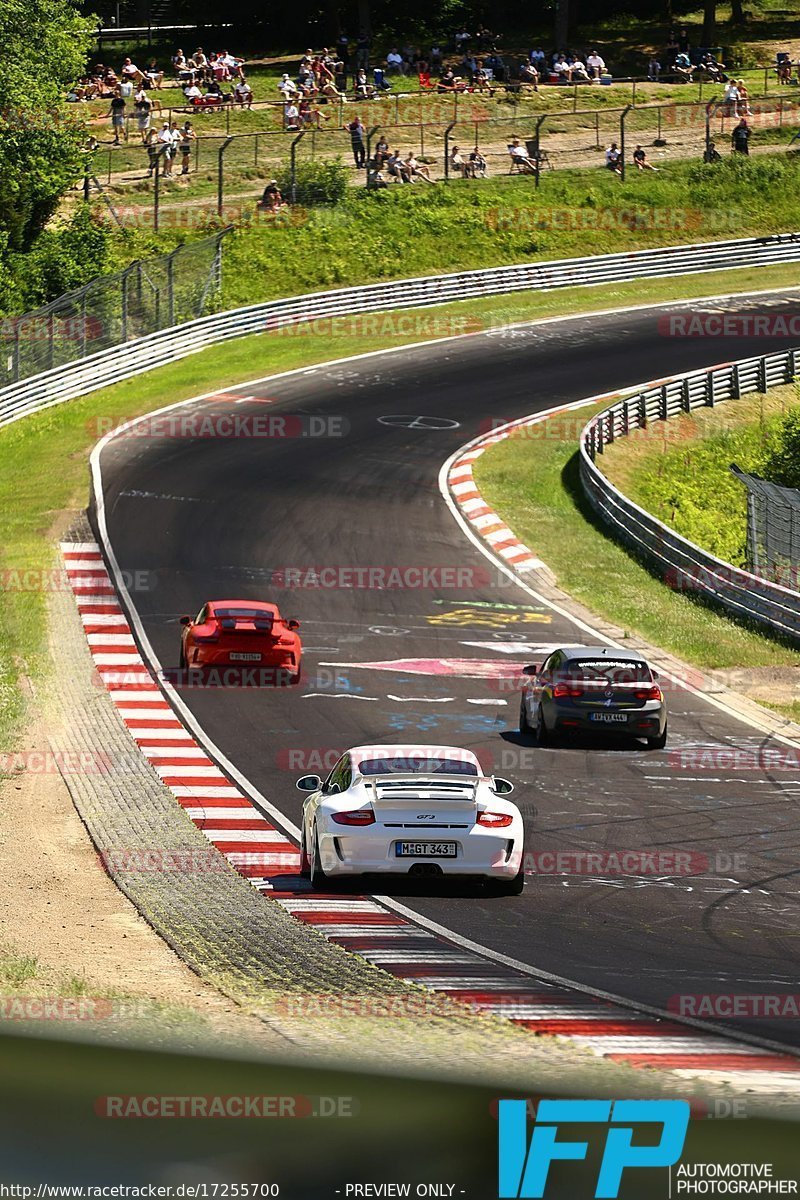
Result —
<instances>
[{"instance_id":1,"label":"curved metal guardrail on the inside of the bend, at right","mask_svg":"<svg viewBox=\"0 0 800 1200\"><path fill-rule=\"evenodd\" d=\"M696 546L624 496L597 466L603 446L652 421L668 421L746 392L765 392L800 374L800 349L742 359L654 383L616 401L581 432L581 482L616 538L655 566L675 590L712 600L739 618L800 642L800 593L752 575Z\"/></svg>"}]
</instances>

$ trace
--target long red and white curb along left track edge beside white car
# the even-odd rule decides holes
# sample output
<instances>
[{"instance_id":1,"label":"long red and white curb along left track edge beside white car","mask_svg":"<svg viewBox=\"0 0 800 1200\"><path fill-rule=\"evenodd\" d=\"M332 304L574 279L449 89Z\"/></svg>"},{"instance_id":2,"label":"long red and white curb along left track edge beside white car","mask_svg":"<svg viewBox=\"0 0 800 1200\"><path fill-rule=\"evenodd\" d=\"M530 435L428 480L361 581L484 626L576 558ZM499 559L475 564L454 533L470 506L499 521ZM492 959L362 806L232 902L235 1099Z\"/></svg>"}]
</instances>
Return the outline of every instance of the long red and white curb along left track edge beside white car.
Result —
<instances>
[{"instance_id":1,"label":"long red and white curb along left track edge beside white car","mask_svg":"<svg viewBox=\"0 0 800 1200\"><path fill-rule=\"evenodd\" d=\"M416 925L372 896L312 892L300 876L297 847L219 770L164 698L139 654L97 544L65 542L61 551L97 673L131 737L209 842L297 920L398 979L535 1034L567 1038L615 1062L690 1075L724 1073L747 1086L800 1086L800 1060L790 1055L531 978ZM313 997L307 1000L313 1006ZM345 1001L351 1006L353 997ZM319 1008L326 1008L321 997Z\"/></svg>"}]
</instances>

